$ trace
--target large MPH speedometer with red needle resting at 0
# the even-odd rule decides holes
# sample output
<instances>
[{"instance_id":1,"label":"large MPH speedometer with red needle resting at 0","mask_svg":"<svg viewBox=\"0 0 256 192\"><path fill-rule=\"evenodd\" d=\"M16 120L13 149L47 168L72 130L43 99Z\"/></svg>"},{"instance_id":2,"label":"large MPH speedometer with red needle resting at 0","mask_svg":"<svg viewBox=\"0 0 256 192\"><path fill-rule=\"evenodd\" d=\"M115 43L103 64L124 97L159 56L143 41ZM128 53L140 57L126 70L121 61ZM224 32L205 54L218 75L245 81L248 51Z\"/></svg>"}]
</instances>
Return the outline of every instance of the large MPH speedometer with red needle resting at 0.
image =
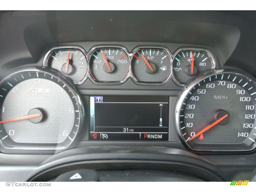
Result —
<instances>
[{"instance_id":1,"label":"large MPH speedometer with red needle resting at 0","mask_svg":"<svg viewBox=\"0 0 256 192\"><path fill-rule=\"evenodd\" d=\"M178 102L178 132L194 150L253 149L255 101L255 82L242 74L223 71L196 80Z\"/></svg>"}]
</instances>

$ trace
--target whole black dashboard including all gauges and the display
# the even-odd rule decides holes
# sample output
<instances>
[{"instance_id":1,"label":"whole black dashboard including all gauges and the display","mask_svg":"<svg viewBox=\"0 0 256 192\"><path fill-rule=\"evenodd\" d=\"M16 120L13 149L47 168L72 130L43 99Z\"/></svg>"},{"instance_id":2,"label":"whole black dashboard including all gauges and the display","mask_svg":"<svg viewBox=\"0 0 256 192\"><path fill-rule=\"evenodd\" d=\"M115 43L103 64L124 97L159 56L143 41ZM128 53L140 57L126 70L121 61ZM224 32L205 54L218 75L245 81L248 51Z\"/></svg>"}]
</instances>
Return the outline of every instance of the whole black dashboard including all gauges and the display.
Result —
<instances>
[{"instance_id":1,"label":"whole black dashboard including all gauges and the display","mask_svg":"<svg viewBox=\"0 0 256 192\"><path fill-rule=\"evenodd\" d=\"M0 180L252 181L255 19L0 12Z\"/></svg>"}]
</instances>

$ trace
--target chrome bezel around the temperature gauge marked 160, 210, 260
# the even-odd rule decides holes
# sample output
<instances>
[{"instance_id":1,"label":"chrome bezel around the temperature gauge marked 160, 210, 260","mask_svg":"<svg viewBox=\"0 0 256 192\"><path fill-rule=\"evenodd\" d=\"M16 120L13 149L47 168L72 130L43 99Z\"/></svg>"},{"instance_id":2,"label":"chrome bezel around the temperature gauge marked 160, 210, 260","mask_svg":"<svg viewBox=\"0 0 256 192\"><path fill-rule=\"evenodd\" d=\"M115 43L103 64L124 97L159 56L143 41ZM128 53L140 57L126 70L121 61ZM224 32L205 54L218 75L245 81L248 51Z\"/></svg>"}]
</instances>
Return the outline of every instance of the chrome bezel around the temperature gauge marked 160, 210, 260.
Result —
<instances>
[{"instance_id":1,"label":"chrome bezel around the temperature gauge marked 160, 210, 260","mask_svg":"<svg viewBox=\"0 0 256 192\"><path fill-rule=\"evenodd\" d=\"M122 49L125 52L125 54L128 57L128 61L129 61L129 71L126 74L126 76L124 77L124 79L122 79L121 81L115 81L115 82L110 82L110 81L98 82L93 77L93 74L92 74L91 68L90 68L90 62L91 62L91 59L93 59L93 55L92 55L93 52L97 49ZM89 71L88 78L94 84L97 84L97 85L121 85L121 84L124 84L130 77L130 74L131 74L131 57L130 57L129 51L124 46L121 46L121 45L97 45L97 46L94 46L90 49L90 51L87 54L87 58L88 58L88 71Z\"/></svg>"}]
</instances>

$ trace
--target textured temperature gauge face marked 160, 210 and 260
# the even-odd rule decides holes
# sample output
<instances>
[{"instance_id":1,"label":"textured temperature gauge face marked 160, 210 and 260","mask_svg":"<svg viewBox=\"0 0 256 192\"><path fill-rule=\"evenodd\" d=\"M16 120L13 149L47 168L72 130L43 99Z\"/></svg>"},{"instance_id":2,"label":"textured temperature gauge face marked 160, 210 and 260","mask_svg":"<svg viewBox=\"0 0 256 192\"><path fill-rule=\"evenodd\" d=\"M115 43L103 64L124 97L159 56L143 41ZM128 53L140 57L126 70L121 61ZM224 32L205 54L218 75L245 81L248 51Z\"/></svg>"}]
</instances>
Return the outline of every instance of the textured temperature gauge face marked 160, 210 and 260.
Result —
<instances>
[{"instance_id":1,"label":"textured temperature gauge face marked 160, 210 and 260","mask_svg":"<svg viewBox=\"0 0 256 192\"><path fill-rule=\"evenodd\" d=\"M129 58L120 48L95 49L90 59L91 76L95 82L122 82L129 74Z\"/></svg>"}]
</instances>

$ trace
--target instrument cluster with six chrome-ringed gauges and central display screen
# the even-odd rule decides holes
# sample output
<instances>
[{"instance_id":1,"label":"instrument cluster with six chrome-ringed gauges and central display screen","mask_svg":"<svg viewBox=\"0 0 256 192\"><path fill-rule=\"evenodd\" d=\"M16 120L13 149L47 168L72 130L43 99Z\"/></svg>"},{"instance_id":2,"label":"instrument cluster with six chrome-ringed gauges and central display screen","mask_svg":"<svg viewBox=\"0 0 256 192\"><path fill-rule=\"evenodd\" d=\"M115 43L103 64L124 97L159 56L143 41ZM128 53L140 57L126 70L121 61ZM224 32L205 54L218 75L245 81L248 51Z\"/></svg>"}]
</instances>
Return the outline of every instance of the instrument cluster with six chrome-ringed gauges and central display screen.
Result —
<instances>
[{"instance_id":1,"label":"instrument cluster with six chrome-ringed gauges and central display screen","mask_svg":"<svg viewBox=\"0 0 256 192\"><path fill-rule=\"evenodd\" d=\"M177 89L178 97L153 89L125 96L104 90L81 95L75 86L86 79L121 85L129 78L151 86L172 79L183 89ZM63 150L86 132L86 141L94 143L165 145L176 135L188 150L249 151L256 147L255 95L254 77L217 68L205 48L184 47L172 54L164 46L138 46L131 52L112 45L89 52L56 46L42 66L15 69L0 82L0 150Z\"/></svg>"}]
</instances>

